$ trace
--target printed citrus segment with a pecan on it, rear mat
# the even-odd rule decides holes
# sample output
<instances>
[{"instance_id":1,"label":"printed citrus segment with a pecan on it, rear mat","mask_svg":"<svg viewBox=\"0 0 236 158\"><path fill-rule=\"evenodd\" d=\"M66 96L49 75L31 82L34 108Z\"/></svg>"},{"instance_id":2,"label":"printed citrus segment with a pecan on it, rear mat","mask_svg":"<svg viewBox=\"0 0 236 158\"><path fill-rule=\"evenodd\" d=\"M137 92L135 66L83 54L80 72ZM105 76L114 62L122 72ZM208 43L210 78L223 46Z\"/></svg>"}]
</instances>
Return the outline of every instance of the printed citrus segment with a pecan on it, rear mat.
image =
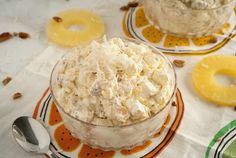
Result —
<instances>
[{"instance_id":1,"label":"printed citrus segment with a pecan on it, rear mat","mask_svg":"<svg viewBox=\"0 0 236 158\"><path fill-rule=\"evenodd\" d=\"M194 37L192 38L192 41L196 46L204 46L210 43L216 43L217 38L215 36L210 35L205 37Z\"/></svg>"}]
</instances>

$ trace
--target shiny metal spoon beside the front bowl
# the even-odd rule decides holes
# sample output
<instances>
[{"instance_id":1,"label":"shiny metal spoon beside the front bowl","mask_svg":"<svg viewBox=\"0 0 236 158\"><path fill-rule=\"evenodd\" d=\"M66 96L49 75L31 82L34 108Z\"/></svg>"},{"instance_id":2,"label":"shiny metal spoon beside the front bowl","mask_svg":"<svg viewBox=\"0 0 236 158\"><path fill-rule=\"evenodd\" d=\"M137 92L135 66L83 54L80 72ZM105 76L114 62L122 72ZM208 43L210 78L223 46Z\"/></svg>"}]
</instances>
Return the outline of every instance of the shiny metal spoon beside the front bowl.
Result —
<instances>
[{"instance_id":1,"label":"shiny metal spoon beside the front bowl","mask_svg":"<svg viewBox=\"0 0 236 158\"><path fill-rule=\"evenodd\" d=\"M12 125L12 133L25 151L58 158L49 150L50 136L39 121L27 116L19 117Z\"/></svg>"}]
</instances>

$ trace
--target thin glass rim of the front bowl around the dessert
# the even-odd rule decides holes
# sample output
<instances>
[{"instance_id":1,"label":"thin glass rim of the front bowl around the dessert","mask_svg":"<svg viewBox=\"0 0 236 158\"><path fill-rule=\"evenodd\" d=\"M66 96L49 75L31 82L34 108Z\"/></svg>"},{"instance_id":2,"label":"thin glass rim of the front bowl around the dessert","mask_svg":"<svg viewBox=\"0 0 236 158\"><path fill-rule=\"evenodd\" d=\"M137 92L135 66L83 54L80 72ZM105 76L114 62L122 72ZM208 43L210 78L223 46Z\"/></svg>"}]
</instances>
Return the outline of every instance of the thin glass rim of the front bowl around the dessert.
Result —
<instances>
[{"instance_id":1,"label":"thin glass rim of the front bowl around the dessert","mask_svg":"<svg viewBox=\"0 0 236 158\"><path fill-rule=\"evenodd\" d=\"M114 37L111 37L109 39L112 39ZM170 59L167 58L166 55L164 55L159 49L155 48L154 46L152 46L151 44L147 43L147 42L144 42L144 41L140 41L140 40L137 40L137 39L133 39L133 38L121 38L121 37L115 37L115 38L120 38L122 39L122 41L124 42L133 42L133 43L136 43L136 44L144 44L146 46L148 46L149 48L151 48L153 50L153 53L158 53L159 55L161 55L168 63L168 65L170 66L170 70L172 70L173 72L173 82L174 82L174 85L172 86L173 88L173 91L172 91L172 94L169 98L169 100L166 102L166 104L155 114L153 114L151 117L148 117L144 120L141 120L141 121L138 121L138 122L133 122L133 123L130 123L130 124L125 124L125 125L115 125L115 126L111 126L111 125L97 125L97 124L93 124L93 123L89 123L89 122L86 122L86 121L83 121L83 120L80 120L76 117L73 117L72 115L70 115L69 113L67 113L64 108L59 104L58 100L56 99L56 96L54 94L54 90L53 90L53 74L54 74L54 71L55 69L57 68L58 64L64 59L64 57L66 57L68 55L68 53L64 54L57 62L56 64L54 65L53 69L52 69L52 72L51 72L51 75L50 75L50 86L49 86L49 89L51 91L51 94L52 94L52 98L53 98L53 101L56 103L56 106L60 108L60 110L66 114L67 116L69 116L70 118L74 119L75 121L79 121L83 124L86 124L88 126L93 126L93 127L104 127L104 128L122 128L122 127L131 127L131 126L135 126L135 125L138 125L138 124L142 124L148 120L151 120L153 118L155 118L159 113L161 113L169 104L170 102L173 100L175 94L176 94L176 91L177 91L177 75L176 75L176 71L175 71L175 68L172 64L172 62L170 61Z\"/></svg>"}]
</instances>

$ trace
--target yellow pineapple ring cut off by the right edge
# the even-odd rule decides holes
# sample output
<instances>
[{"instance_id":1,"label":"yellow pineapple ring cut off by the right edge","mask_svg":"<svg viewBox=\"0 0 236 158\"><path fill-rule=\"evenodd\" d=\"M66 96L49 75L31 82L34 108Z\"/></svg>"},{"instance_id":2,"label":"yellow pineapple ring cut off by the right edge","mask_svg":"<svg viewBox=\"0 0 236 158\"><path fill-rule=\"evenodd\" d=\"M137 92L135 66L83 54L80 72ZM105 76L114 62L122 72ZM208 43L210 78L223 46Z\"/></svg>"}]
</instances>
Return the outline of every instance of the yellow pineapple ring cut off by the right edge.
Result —
<instances>
[{"instance_id":1,"label":"yellow pineapple ring cut off by the right edge","mask_svg":"<svg viewBox=\"0 0 236 158\"><path fill-rule=\"evenodd\" d=\"M217 83L215 74L224 74L236 79L236 57L207 57L200 61L192 72L193 86L203 98L218 105L236 106L236 84L223 86Z\"/></svg>"}]
</instances>

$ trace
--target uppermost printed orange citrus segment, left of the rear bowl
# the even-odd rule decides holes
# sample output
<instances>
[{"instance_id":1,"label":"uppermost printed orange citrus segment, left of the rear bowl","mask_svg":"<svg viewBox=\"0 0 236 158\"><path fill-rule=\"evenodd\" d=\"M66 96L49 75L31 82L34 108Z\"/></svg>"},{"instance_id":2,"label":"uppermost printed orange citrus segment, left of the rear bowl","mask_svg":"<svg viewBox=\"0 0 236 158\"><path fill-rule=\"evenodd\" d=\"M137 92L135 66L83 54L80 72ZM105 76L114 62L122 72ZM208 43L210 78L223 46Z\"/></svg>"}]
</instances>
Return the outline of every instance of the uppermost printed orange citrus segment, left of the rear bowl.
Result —
<instances>
[{"instance_id":1,"label":"uppermost printed orange citrus segment, left of the rear bowl","mask_svg":"<svg viewBox=\"0 0 236 158\"><path fill-rule=\"evenodd\" d=\"M143 7L138 8L138 10L135 13L135 25L136 27L143 27L148 25L149 22L144 14Z\"/></svg>"}]
</instances>

